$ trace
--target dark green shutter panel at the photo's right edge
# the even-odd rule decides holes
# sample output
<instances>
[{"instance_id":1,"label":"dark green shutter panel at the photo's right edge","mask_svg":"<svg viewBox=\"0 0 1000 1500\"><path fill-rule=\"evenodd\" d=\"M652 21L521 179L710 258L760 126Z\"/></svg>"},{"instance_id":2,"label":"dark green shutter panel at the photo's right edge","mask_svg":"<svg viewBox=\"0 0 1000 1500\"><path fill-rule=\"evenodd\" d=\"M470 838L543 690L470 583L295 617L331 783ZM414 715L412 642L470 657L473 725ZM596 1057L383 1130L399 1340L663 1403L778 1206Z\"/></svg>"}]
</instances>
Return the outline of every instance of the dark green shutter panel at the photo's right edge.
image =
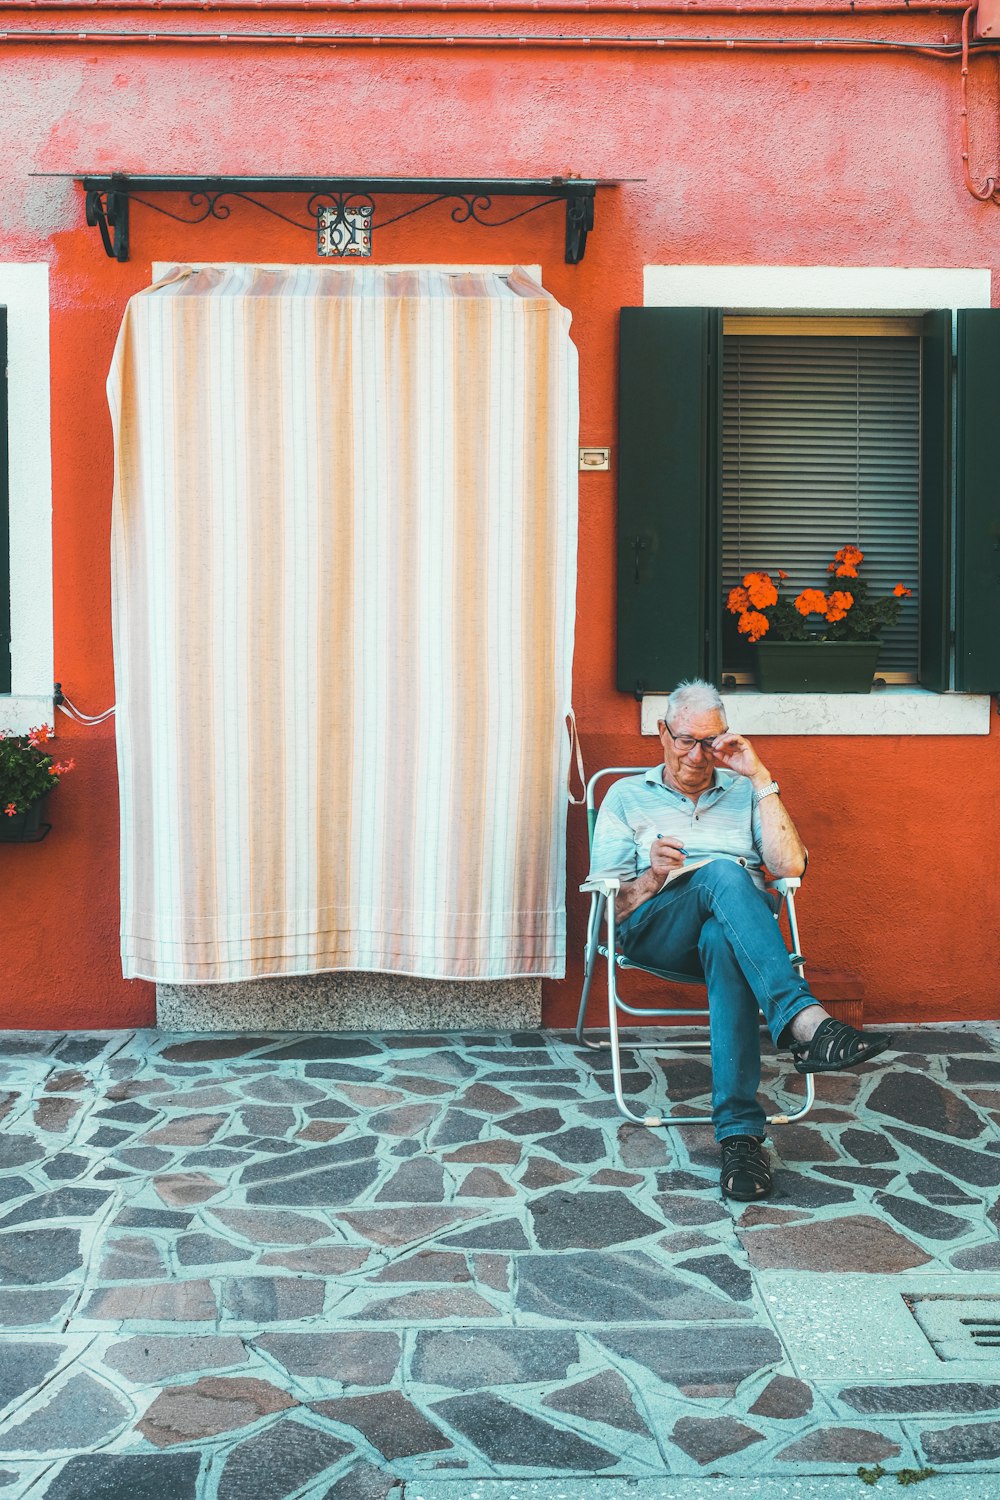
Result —
<instances>
[{"instance_id":1,"label":"dark green shutter panel at the photo's right edge","mask_svg":"<svg viewBox=\"0 0 1000 1500\"><path fill-rule=\"evenodd\" d=\"M958 314L955 687L1000 690L1000 309Z\"/></svg>"}]
</instances>

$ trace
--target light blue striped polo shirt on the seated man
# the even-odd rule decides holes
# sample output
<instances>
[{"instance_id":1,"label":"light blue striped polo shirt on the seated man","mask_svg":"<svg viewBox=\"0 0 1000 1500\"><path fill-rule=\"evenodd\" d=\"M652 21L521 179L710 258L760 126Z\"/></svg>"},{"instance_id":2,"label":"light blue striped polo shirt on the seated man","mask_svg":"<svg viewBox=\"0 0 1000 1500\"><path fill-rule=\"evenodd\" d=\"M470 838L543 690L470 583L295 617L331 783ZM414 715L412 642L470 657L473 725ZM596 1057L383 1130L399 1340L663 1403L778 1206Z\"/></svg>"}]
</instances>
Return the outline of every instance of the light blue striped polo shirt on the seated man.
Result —
<instances>
[{"instance_id":1,"label":"light blue striped polo shirt on the seated man","mask_svg":"<svg viewBox=\"0 0 1000 1500\"><path fill-rule=\"evenodd\" d=\"M591 878L634 880L649 868L657 837L681 838L688 860L735 860L765 888L760 813L745 776L715 771L712 786L693 802L663 780L663 766L615 782L601 802L591 849Z\"/></svg>"}]
</instances>

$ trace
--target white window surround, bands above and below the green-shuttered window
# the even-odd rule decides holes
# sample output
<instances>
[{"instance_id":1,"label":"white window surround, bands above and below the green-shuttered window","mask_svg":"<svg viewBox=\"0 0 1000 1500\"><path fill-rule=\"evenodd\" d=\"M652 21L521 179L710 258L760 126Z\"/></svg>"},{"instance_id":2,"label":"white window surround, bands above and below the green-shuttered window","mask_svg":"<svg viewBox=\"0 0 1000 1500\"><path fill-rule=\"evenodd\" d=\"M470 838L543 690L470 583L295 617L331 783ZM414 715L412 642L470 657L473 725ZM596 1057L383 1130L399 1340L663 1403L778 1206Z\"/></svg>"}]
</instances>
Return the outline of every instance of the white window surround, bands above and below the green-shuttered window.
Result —
<instances>
[{"instance_id":1,"label":"white window surround, bands above and below the green-shuttered window","mask_svg":"<svg viewBox=\"0 0 1000 1500\"><path fill-rule=\"evenodd\" d=\"M646 266L643 306L723 308L732 314L892 312L990 308L993 276L979 267ZM874 693L726 696L729 722L756 735L988 735L990 694L931 693L915 684ZM642 700L642 734L655 735L666 694Z\"/></svg>"}]
</instances>

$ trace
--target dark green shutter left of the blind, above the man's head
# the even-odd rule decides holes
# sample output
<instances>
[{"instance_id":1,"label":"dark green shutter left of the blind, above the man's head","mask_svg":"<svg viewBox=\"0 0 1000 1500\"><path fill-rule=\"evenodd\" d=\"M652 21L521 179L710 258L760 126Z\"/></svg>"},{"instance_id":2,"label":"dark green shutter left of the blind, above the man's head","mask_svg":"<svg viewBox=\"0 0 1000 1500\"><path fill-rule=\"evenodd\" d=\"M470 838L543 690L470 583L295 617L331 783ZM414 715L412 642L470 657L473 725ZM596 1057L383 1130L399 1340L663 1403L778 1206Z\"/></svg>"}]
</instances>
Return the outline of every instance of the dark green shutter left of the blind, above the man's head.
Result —
<instances>
[{"instance_id":1,"label":"dark green shutter left of the blind, above the man's head","mask_svg":"<svg viewBox=\"0 0 1000 1500\"><path fill-rule=\"evenodd\" d=\"M720 672L721 312L622 308L618 687Z\"/></svg>"}]
</instances>

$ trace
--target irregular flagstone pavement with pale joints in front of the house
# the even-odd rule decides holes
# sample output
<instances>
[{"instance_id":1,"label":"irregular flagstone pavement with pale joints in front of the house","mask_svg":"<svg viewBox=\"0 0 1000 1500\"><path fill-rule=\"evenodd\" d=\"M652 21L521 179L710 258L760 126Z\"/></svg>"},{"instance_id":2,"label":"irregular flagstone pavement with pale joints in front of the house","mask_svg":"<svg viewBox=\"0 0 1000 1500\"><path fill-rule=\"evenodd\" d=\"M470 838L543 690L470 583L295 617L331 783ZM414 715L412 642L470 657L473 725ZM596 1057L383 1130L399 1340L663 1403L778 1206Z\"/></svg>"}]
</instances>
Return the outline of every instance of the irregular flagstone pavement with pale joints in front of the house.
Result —
<instances>
[{"instance_id":1,"label":"irregular flagstone pavement with pale joints in front of the house","mask_svg":"<svg viewBox=\"0 0 1000 1500\"><path fill-rule=\"evenodd\" d=\"M741 1208L565 1035L0 1034L0 1500L994 1494L1000 1030L898 1041Z\"/></svg>"}]
</instances>

